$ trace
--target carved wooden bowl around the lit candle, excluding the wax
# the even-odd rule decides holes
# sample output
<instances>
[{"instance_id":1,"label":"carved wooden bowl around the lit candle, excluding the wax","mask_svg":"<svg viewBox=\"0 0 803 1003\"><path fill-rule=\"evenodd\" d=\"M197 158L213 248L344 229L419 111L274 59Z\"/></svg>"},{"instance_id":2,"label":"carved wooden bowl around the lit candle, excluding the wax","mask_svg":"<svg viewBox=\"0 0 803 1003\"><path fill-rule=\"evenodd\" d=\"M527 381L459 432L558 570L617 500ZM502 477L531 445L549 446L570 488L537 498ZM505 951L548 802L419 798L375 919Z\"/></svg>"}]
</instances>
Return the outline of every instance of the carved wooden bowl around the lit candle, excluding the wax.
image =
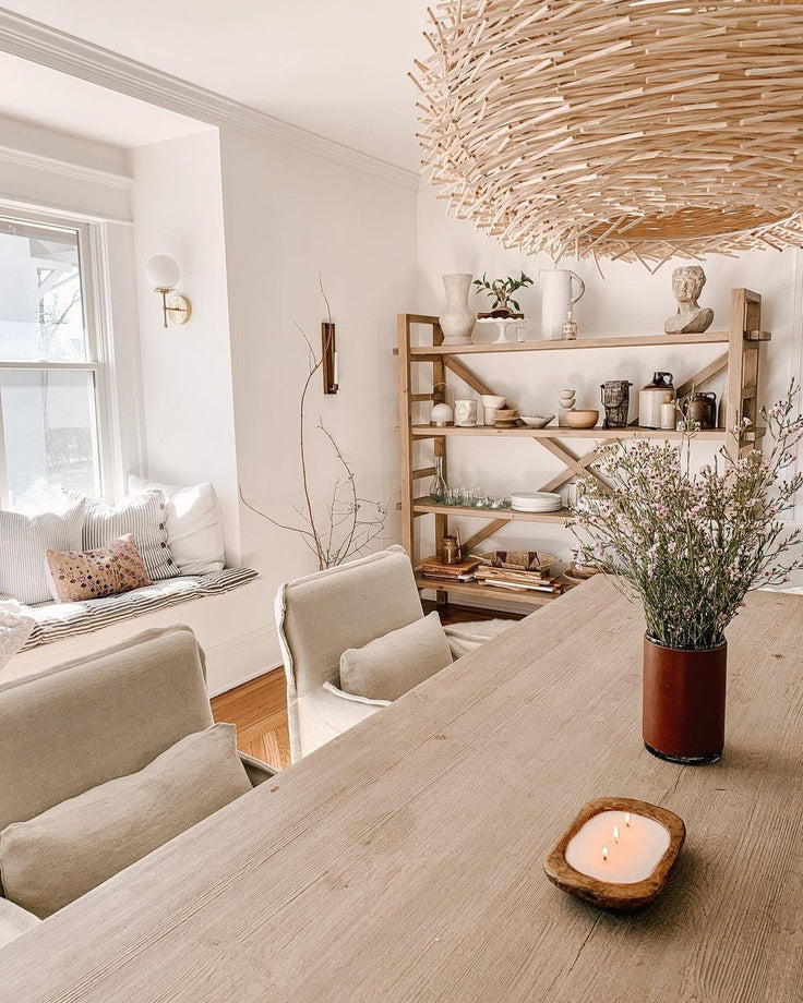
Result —
<instances>
[{"instance_id":1,"label":"carved wooden bowl around the lit candle, excluding the wax","mask_svg":"<svg viewBox=\"0 0 803 1003\"><path fill-rule=\"evenodd\" d=\"M659 822L669 831L669 846L652 872L644 881L628 883L600 881L598 878L591 878L575 870L566 860L566 847L572 838L589 819L602 811L630 811L632 814L645 815ZM649 801L639 801L635 798L596 798L580 809L579 814L555 843L552 853L544 861L543 870L552 884L571 895L590 902L591 905L599 906L601 909L632 913L649 905L659 895L678 859L685 837L686 826L683 824L683 819L667 811L666 808L659 808L657 805L650 805Z\"/></svg>"}]
</instances>

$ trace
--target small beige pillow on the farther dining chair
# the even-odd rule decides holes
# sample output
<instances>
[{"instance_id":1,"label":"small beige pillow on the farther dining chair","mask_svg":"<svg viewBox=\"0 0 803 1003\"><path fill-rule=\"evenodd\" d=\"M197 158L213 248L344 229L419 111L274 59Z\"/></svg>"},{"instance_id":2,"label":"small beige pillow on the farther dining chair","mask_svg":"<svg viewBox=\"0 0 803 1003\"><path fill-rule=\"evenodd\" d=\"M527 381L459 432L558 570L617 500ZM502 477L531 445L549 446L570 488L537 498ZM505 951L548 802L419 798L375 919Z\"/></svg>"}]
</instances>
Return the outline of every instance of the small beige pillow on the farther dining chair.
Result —
<instances>
[{"instance_id":1,"label":"small beige pillow on the farther dining chair","mask_svg":"<svg viewBox=\"0 0 803 1003\"><path fill-rule=\"evenodd\" d=\"M438 613L340 655L340 688L369 700L397 700L452 664Z\"/></svg>"}]
</instances>

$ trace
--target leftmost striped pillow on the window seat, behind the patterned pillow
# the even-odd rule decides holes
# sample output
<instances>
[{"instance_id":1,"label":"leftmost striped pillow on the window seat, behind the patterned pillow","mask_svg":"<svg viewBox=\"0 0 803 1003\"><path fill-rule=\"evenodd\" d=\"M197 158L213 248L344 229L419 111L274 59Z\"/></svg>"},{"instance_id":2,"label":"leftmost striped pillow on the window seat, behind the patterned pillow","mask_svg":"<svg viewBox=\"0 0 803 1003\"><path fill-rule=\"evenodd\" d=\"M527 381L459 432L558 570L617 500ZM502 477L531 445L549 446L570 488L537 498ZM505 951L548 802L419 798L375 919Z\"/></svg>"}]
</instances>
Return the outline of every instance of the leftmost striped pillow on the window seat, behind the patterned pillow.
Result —
<instances>
[{"instance_id":1,"label":"leftmost striped pillow on the window seat, behind the patterned pillow","mask_svg":"<svg viewBox=\"0 0 803 1003\"><path fill-rule=\"evenodd\" d=\"M0 593L20 603L52 600L45 551L80 551L85 498L74 497L61 515L0 511Z\"/></svg>"}]
</instances>

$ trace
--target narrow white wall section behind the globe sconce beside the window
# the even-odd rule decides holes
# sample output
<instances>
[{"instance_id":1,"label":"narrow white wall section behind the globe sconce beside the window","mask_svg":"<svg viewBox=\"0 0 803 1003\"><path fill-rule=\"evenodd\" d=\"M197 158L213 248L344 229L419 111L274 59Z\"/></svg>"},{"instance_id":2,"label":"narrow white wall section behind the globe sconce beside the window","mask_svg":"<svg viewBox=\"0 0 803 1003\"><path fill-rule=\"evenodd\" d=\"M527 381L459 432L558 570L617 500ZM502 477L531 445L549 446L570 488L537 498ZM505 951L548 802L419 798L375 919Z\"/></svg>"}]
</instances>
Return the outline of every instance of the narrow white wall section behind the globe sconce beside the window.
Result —
<instances>
[{"instance_id":1,"label":"narrow white wall section behind the globe sconce beside the window","mask_svg":"<svg viewBox=\"0 0 803 1003\"><path fill-rule=\"evenodd\" d=\"M133 150L135 275L146 468L168 484L212 481L224 513L227 560L240 563L228 294L216 130ZM164 327L147 261L181 269L189 324Z\"/></svg>"}]
</instances>

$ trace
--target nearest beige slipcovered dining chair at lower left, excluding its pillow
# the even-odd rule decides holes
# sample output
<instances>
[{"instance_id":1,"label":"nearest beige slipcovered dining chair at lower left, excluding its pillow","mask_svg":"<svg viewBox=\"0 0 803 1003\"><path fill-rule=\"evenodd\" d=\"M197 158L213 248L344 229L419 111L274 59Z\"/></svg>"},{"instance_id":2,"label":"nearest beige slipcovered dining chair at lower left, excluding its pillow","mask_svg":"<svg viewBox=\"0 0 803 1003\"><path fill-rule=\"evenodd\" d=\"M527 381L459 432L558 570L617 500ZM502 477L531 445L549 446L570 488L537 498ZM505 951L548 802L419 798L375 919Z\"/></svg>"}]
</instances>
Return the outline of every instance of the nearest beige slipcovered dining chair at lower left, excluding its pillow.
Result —
<instances>
[{"instance_id":1,"label":"nearest beige slipcovered dining chair at lower left, excluding its pillow","mask_svg":"<svg viewBox=\"0 0 803 1003\"><path fill-rule=\"evenodd\" d=\"M137 773L213 724L204 654L184 626L0 685L0 832ZM275 775L240 759L252 786ZM24 929L7 905L0 898L0 935L12 922Z\"/></svg>"}]
</instances>

